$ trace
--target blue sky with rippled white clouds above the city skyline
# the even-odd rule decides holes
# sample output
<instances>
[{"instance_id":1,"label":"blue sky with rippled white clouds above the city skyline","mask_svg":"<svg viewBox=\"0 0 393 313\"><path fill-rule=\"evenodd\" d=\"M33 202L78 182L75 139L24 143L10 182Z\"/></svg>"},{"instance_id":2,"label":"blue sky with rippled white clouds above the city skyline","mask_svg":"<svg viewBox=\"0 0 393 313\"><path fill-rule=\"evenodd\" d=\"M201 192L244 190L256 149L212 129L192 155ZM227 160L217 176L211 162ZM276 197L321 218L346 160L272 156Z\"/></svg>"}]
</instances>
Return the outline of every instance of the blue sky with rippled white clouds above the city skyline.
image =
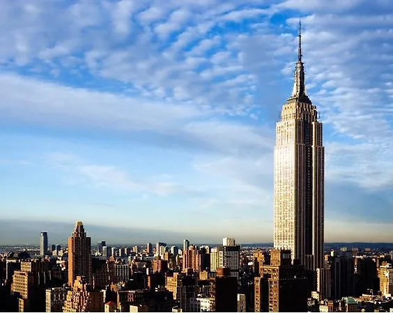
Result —
<instances>
[{"instance_id":1,"label":"blue sky with rippled white clouds above the city skyline","mask_svg":"<svg viewBox=\"0 0 393 313\"><path fill-rule=\"evenodd\" d=\"M301 18L324 123L325 240L393 241L392 9L1 1L0 219L121 227L124 242L127 229L272 241L275 122Z\"/></svg>"}]
</instances>

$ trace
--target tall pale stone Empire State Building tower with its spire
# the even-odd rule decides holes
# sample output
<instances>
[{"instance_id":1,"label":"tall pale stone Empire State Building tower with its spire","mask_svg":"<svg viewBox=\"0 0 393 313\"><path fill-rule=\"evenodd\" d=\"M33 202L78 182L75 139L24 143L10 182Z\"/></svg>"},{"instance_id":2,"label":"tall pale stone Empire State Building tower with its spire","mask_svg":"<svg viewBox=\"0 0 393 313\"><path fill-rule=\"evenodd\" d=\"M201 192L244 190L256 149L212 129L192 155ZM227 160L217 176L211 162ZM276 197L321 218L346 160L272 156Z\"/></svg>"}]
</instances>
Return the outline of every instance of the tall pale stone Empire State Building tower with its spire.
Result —
<instances>
[{"instance_id":1,"label":"tall pale stone Empire State Building tower with its spire","mask_svg":"<svg viewBox=\"0 0 393 313\"><path fill-rule=\"evenodd\" d=\"M305 89L302 35L291 96L276 125L274 245L308 270L323 268L322 123Z\"/></svg>"}]
</instances>

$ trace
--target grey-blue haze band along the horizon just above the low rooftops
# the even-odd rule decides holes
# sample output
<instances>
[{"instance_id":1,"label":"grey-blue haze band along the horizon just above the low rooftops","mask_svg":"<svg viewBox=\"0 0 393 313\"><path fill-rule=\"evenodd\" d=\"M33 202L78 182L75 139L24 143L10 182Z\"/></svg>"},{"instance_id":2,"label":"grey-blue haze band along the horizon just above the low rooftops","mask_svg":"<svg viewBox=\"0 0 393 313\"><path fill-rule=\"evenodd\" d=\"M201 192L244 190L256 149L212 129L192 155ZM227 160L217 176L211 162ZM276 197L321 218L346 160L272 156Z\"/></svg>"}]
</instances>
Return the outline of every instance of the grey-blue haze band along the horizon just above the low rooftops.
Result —
<instances>
[{"instance_id":1,"label":"grey-blue haze band along the horizon just above the low rooftops","mask_svg":"<svg viewBox=\"0 0 393 313\"><path fill-rule=\"evenodd\" d=\"M82 221L83 222L83 221ZM3 220L0 228L0 245L39 245L40 232L47 231L48 244L57 245L67 243L68 237L71 236L75 228L75 222L47 222L47 221L24 221L24 220ZM147 228L127 228L127 227L105 227L103 224L86 224L84 222L86 234L92 238L91 244L96 245L98 241L106 241L108 245L118 244L139 244L139 243L182 243L188 239L194 244L219 244L222 238L233 237L237 243L272 243L272 238L263 240L259 236L235 236L235 232L227 231L225 234L217 236L186 233L180 231L167 231L164 229L147 229ZM130 239L126 239L130 238ZM364 238L364 236L357 236ZM367 235L366 235L367 238ZM129 240L129 241L127 241ZM123 243L122 243L123 242ZM330 241L325 237L325 244L331 243L392 243L393 241Z\"/></svg>"}]
</instances>

